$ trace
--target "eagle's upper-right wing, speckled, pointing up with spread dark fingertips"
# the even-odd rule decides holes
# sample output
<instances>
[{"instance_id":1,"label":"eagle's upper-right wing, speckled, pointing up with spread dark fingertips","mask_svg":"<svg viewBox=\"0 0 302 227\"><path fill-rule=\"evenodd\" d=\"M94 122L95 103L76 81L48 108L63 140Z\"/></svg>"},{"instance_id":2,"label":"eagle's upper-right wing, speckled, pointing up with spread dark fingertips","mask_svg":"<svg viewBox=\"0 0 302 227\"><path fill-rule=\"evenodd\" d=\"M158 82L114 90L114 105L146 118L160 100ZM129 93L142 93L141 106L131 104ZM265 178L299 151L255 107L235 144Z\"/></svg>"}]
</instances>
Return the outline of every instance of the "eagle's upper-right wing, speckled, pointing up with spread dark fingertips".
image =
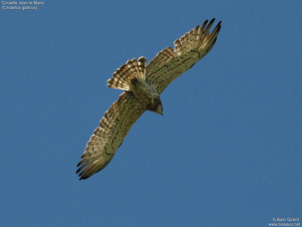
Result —
<instances>
[{"instance_id":1,"label":"eagle's upper-right wing, speckled, pointing up with spread dark fingertips","mask_svg":"<svg viewBox=\"0 0 302 227\"><path fill-rule=\"evenodd\" d=\"M174 49L167 47L153 58L146 67L145 81L159 94L178 76L190 69L214 46L220 30L220 23L209 32L215 18L207 25L204 21L194 29L174 41ZM207 26L206 26L207 25Z\"/></svg>"}]
</instances>

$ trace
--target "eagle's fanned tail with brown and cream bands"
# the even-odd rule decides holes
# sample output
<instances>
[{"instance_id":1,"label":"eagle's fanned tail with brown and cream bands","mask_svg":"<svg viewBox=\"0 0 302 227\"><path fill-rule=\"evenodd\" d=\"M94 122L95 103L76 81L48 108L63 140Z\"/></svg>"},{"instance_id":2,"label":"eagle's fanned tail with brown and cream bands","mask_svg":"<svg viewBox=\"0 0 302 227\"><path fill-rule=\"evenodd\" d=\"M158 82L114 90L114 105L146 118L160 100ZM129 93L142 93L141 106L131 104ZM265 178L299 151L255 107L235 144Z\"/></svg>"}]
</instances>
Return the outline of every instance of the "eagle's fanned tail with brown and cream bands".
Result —
<instances>
[{"instance_id":1,"label":"eagle's fanned tail with brown and cream bands","mask_svg":"<svg viewBox=\"0 0 302 227\"><path fill-rule=\"evenodd\" d=\"M107 82L107 87L121 90L130 90L129 84L134 78L145 79L146 58L140 57L138 60L133 58L128 60L126 64L120 66L112 75L113 77Z\"/></svg>"}]
</instances>

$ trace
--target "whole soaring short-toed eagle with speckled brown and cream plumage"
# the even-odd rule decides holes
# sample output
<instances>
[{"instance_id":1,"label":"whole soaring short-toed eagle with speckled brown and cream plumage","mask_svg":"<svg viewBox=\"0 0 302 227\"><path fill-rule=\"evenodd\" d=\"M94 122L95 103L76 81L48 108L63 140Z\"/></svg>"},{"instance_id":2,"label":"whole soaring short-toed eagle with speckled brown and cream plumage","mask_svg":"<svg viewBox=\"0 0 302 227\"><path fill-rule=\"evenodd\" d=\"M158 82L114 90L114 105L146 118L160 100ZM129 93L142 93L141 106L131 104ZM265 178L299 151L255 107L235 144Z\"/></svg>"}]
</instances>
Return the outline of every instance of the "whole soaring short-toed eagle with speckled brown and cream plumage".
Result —
<instances>
[{"instance_id":1,"label":"whole soaring short-toed eagle with speckled brown and cream plumage","mask_svg":"<svg viewBox=\"0 0 302 227\"><path fill-rule=\"evenodd\" d=\"M87 143L77 167L80 180L104 169L124 141L133 123L146 110L162 114L159 95L178 76L203 58L215 44L220 23L208 20L174 41L174 48L163 49L146 65L146 58L133 58L120 66L107 87L124 90L104 114ZM208 23L208 24L207 24Z\"/></svg>"}]
</instances>

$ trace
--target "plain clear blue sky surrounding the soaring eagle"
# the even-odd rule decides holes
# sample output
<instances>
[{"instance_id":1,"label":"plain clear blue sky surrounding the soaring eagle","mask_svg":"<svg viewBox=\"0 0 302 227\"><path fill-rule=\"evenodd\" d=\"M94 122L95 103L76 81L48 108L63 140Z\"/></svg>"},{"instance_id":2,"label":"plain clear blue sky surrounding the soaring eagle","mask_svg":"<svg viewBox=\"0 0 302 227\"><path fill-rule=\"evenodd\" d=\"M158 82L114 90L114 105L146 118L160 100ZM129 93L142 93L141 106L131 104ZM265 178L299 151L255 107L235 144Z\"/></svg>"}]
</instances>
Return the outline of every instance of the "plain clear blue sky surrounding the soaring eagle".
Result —
<instances>
[{"instance_id":1,"label":"plain clear blue sky surrounding the soaring eagle","mask_svg":"<svg viewBox=\"0 0 302 227\"><path fill-rule=\"evenodd\" d=\"M2 5L3 6L3 5ZM268 226L302 220L301 1L44 1L1 17L0 226ZM128 59L206 19L210 53L111 163L76 164ZM212 29L211 29L212 30Z\"/></svg>"}]
</instances>

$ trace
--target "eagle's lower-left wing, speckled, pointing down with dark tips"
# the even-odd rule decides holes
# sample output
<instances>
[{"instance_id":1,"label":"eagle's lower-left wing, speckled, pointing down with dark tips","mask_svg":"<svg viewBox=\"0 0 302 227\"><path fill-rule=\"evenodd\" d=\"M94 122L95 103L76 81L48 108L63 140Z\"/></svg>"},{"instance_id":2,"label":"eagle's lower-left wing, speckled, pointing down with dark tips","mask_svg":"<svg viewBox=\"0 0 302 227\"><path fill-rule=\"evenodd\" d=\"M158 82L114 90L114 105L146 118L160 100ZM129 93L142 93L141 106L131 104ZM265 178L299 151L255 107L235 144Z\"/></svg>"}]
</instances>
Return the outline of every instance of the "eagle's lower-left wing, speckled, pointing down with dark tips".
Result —
<instances>
[{"instance_id":1,"label":"eagle's lower-left wing, speckled, pointing down with dark tips","mask_svg":"<svg viewBox=\"0 0 302 227\"><path fill-rule=\"evenodd\" d=\"M136 97L130 91L123 92L100 121L87 143L81 161L77 165L80 180L87 179L104 169L124 141L134 122L143 114Z\"/></svg>"}]
</instances>

